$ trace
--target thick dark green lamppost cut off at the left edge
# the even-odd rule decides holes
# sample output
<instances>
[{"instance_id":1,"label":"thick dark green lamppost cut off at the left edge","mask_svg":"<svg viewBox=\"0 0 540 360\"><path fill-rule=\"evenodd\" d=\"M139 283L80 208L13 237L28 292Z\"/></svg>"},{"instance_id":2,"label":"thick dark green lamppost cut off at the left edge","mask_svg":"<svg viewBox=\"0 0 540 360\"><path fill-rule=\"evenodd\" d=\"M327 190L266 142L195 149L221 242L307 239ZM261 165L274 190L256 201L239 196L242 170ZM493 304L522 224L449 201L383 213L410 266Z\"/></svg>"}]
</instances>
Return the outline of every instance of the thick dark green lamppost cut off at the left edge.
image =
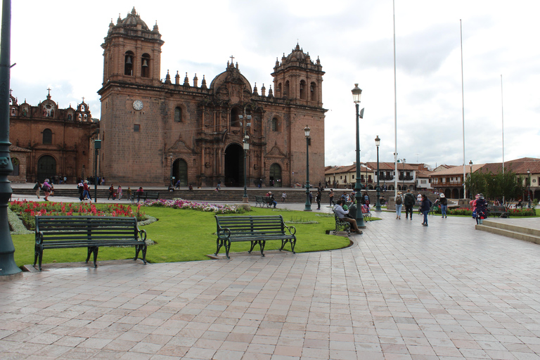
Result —
<instances>
[{"instance_id":1,"label":"thick dark green lamppost cut off at the left edge","mask_svg":"<svg viewBox=\"0 0 540 360\"><path fill-rule=\"evenodd\" d=\"M15 264L15 246L9 233L8 202L13 193L8 175L13 172L9 156L9 83L11 51L11 0L2 3L0 44L0 275L20 273Z\"/></svg>"}]
</instances>

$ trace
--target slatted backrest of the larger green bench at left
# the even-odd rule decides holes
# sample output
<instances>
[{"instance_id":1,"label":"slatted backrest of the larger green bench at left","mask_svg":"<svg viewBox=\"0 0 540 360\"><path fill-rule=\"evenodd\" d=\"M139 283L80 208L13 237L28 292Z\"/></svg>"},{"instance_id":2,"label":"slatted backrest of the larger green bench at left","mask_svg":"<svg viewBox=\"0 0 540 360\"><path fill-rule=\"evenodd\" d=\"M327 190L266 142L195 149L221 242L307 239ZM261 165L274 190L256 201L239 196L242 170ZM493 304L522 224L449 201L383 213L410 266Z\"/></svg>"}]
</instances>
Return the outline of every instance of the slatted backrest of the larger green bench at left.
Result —
<instances>
[{"instance_id":1,"label":"slatted backrest of the larger green bench at left","mask_svg":"<svg viewBox=\"0 0 540 360\"><path fill-rule=\"evenodd\" d=\"M36 234L47 240L116 240L139 236L136 217L37 216Z\"/></svg>"}]
</instances>

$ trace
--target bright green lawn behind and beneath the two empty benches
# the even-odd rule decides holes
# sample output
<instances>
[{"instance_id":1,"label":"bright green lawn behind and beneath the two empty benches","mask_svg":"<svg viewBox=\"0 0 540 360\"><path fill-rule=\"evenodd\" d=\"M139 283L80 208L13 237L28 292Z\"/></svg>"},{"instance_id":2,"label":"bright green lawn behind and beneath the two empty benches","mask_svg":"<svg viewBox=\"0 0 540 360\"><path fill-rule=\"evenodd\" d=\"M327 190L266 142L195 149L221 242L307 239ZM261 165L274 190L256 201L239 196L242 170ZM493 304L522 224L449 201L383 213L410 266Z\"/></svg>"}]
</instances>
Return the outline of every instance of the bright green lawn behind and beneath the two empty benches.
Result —
<instances>
[{"instance_id":1,"label":"bright green lawn behind and beneath the two empty benches","mask_svg":"<svg viewBox=\"0 0 540 360\"><path fill-rule=\"evenodd\" d=\"M185 262L209 259L206 255L216 251L216 221L214 213L195 210L179 210L165 207L143 207L146 214L156 217L158 221L141 229L146 230L148 238L155 245L148 247L146 259L149 262ZM326 235L327 230L335 228L334 217L319 216L319 213L302 211L283 211L266 208L253 208L252 215L283 215L289 221L317 221L318 224L288 224L295 226L297 232L296 252L311 252L345 248L349 239L342 236ZM229 216L229 215L222 215ZM234 216L234 215L230 215ZM34 235L12 235L15 245L15 262L18 266L34 263ZM265 250L281 247L281 241L269 241ZM234 252L248 251L249 243L232 243L231 258ZM290 245L285 245L290 251ZM220 254L225 249L221 248ZM98 261L113 259L129 259L134 257L134 248L100 248ZM258 247L252 253L260 256ZM257 255L258 254L258 255ZM84 262L86 248L45 250L43 263Z\"/></svg>"}]
</instances>

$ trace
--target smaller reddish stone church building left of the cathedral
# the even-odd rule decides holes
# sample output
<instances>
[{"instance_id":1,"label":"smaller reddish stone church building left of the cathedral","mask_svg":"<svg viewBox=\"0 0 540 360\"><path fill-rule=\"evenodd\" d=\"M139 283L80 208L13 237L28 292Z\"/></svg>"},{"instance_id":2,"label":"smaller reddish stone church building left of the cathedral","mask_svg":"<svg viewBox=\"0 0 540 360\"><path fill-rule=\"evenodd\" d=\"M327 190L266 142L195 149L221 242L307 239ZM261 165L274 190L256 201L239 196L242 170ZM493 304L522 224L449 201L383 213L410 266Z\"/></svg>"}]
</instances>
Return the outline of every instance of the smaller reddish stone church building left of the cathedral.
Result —
<instances>
[{"instance_id":1,"label":"smaller reddish stone church building left of the cathedral","mask_svg":"<svg viewBox=\"0 0 540 360\"><path fill-rule=\"evenodd\" d=\"M13 165L18 172L9 176L15 182L54 181L64 176L76 184L79 177L92 176L91 140L98 134L88 105L59 109L47 94L37 106L18 104L10 96L9 141ZM15 169L15 167L14 167Z\"/></svg>"}]
</instances>

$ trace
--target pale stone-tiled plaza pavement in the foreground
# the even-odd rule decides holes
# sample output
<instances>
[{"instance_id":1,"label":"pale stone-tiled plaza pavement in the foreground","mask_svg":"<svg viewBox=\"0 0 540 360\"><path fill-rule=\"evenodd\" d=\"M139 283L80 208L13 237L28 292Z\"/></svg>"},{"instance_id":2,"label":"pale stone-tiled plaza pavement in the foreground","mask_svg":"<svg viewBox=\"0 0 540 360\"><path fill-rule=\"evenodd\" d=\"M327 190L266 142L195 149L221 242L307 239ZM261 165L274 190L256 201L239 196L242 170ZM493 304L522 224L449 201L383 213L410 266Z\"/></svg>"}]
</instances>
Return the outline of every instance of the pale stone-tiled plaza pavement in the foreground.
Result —
<instances>
[{"instance_id":1,"label":"pale stone-tiled plaza pavement in the foreground","mask_svg":"<svg viewBox=\"0 0 540 360\"><path fill-rule=\"evenodd\" d=\"M540 359L540 245L381 217L342 250L44 264L0 281L0 357Z\"/></svg>"}]
</instances>

